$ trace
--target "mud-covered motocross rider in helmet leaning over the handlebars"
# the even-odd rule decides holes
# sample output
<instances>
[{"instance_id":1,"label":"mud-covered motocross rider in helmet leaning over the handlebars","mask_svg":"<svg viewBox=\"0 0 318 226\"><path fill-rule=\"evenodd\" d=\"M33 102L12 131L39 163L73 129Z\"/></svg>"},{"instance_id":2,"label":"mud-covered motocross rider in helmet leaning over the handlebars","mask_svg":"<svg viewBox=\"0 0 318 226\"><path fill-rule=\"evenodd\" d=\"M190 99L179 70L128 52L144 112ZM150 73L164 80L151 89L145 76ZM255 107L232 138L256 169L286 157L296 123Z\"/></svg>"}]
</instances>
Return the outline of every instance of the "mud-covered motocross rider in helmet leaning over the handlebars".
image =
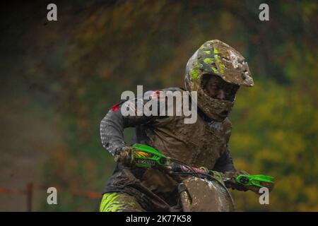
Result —
<instances>
[{"instance_id":1,"label":"mud-covered motocross rider in helmet leaning over the handlebars","mask_svg":"<svg viewBox=\"0 0 318 226\"><path fill-rule=\"evenodd\" d=\"M232 124L228 119L240 86L253 86L249 66L228 44L210 40L201 45L187 62L185 90L197 91L197 120L184 124L184 117L123 116L121 107L114 105L100 124L102 145L117 160L103 191L100 211L172 211L178 207L178 182L157 169L134 168L124 165L129 145L124 142L124 129L136 128L136 143L150 145L167 157L193 167L207 167L234 178L237 171L233 165L228 142ZM161 91L184 91L168 88ZM154 92L155 94L156 92ZM231 189L252 190L230 179Z\"/></svg>"}]
</instances>

